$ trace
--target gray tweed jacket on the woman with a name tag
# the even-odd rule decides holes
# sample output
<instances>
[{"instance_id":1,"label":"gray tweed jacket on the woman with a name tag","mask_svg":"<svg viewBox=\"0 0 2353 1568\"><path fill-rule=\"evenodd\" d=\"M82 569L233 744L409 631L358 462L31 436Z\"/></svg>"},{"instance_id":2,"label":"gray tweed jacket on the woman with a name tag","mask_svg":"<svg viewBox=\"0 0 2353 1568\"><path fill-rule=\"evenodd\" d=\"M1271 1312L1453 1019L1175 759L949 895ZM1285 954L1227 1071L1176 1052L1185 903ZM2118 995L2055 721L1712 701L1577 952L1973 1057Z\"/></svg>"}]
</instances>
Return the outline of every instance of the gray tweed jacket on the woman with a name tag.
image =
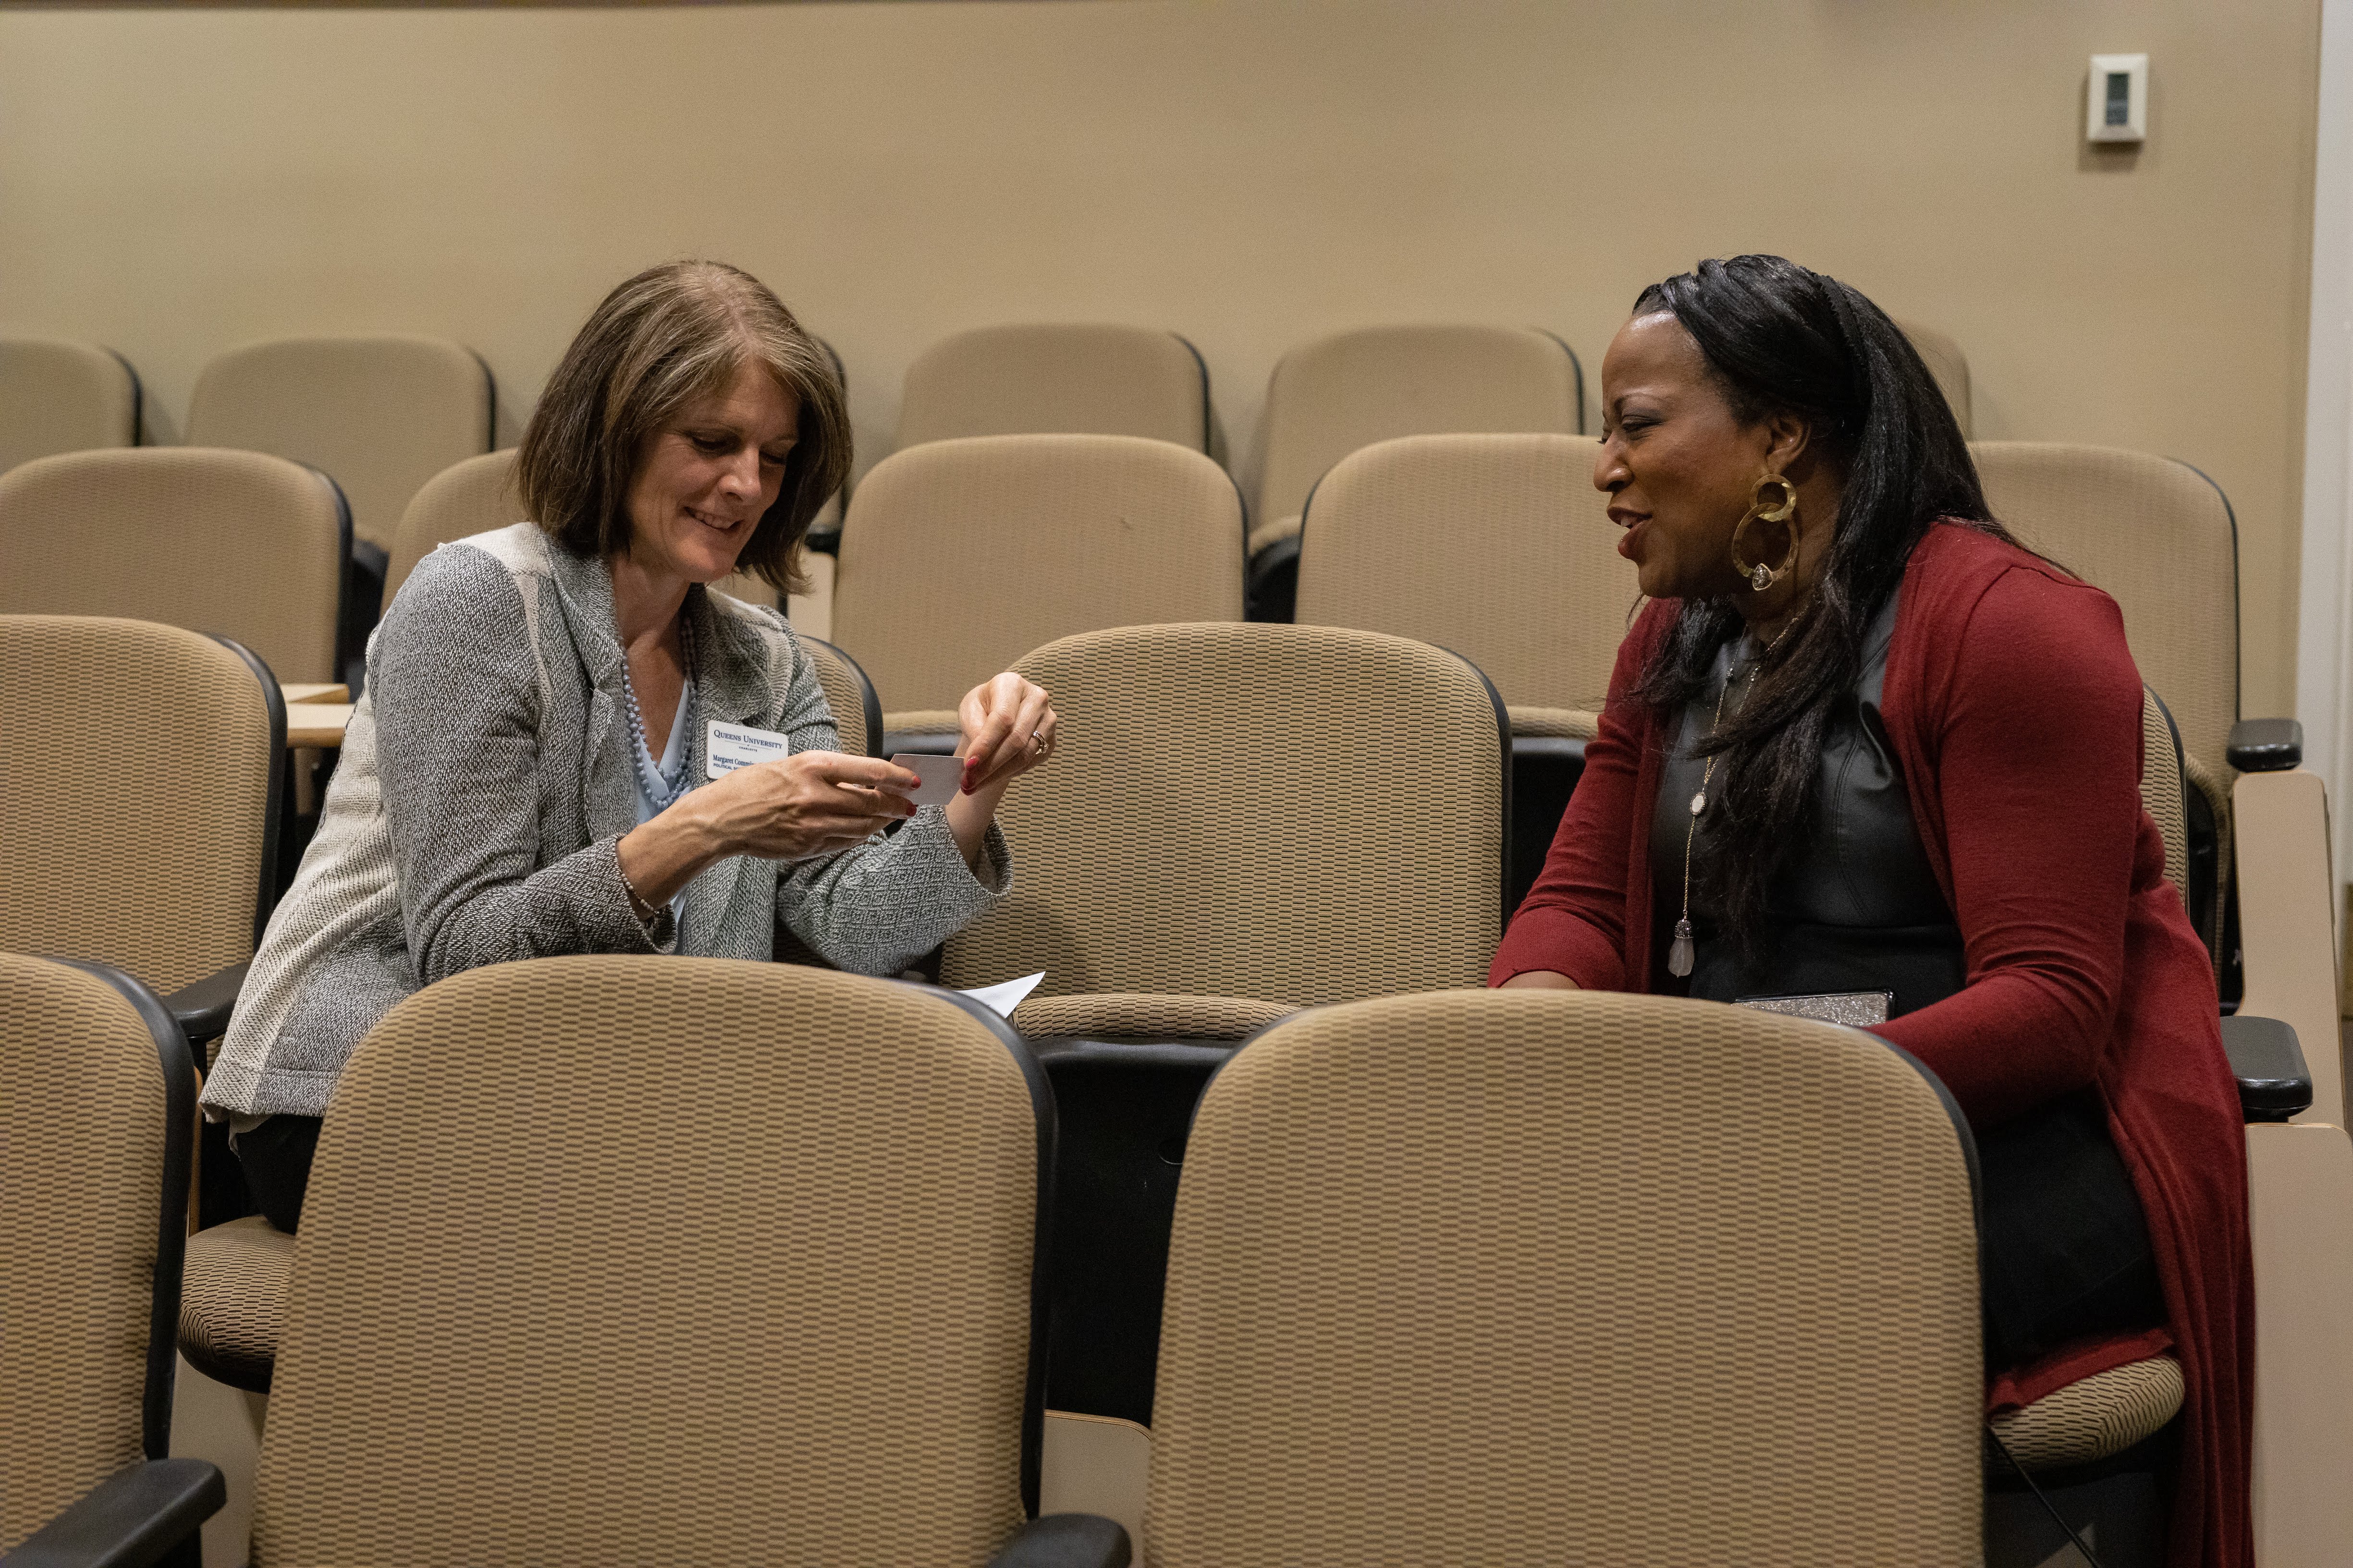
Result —
<instances>
[{"instance_id":1,"label":"gray tweed jacket on the woman with a name tag","mask_svg":"<svg viewBox=\"0 0 2353 1568\"><path fill-rule=\"evenodd\" d=\"M784 616L701 588L696 722L840 745L816 670ZM993 827L984 875L925 806L892 837L814 860L729 856L685 914L631 910L614 851L638 785L612 574L527 522L428 555L367 649L367 691L318 837L271 917L205 1084L214 1117L318 1117L360 1037L402 997L461 969L567 952L769 959L781 919L840 969L894 973L1005 891Z\"/></svg>"}]
</instances>

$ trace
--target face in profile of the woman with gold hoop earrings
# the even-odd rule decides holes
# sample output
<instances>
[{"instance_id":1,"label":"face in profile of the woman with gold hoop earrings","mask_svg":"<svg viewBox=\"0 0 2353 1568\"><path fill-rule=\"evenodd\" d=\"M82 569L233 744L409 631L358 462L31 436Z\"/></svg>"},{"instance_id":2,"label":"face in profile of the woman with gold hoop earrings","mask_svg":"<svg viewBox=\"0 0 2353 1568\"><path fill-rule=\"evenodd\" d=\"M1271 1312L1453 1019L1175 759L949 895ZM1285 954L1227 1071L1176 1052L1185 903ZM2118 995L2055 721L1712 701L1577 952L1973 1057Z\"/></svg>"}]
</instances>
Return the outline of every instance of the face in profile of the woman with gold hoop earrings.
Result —
<instances>
[{"instance_id":1,"label":"face in profile of the woman with gold hoop earrings","mask_svg":"<svg viewBox=\"0 0 2353 1568\"><path fill-rule=\"evenodd\" d=\"M1732 567L1732 529L1748 512L1758 475L1781 473L1786 421L1744 425L1708 374L1699 343L1673 315L1638 315L1602 355L1602 449L1593 487L1626 529L1619 555L1654 599L1744 592ZM1802 433L1798 433L1802 444ZM1767 491L1769 494L1769 491ZM1751 529L1758 538L1758 529ZM1786 536L1744 538L1751 557L1781 559Z\"/></svg>"}]
</instances>

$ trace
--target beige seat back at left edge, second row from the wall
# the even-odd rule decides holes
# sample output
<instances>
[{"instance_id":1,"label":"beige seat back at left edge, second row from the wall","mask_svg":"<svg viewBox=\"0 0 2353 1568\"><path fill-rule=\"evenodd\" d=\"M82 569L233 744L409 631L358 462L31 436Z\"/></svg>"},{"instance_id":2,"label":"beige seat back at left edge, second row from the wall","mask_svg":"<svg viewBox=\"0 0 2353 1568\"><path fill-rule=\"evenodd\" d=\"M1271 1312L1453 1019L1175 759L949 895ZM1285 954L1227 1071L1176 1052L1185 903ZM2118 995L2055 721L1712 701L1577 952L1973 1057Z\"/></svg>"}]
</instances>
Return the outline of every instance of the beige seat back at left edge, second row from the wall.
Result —
<instances>
[{"instance_id":1,"label":"beige seat back at left edge, second row from the wall","mask_svg":"<svg viewBox=\"0 0 2353 1568\"><path fill-rule=\"evenodd\" d=\"M0 475L0 614L132 616L235 637L282 682L341 679L344 498L325 475L202 447Z\"/></svg>"}]
</instances>

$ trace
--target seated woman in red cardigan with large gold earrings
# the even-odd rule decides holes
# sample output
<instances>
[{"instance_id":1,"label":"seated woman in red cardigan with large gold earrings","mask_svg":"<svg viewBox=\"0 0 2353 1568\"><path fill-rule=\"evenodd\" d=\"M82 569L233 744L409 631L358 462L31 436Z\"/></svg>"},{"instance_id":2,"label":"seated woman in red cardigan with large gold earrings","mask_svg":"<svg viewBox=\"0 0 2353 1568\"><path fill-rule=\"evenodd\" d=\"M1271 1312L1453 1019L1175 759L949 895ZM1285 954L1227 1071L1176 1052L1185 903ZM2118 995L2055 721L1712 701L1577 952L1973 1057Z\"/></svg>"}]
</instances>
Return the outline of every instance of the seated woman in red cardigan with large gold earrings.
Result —
<instances>
[{"instance_id":1,"label":"seated woman in red cardigan with large gold earrings","mask_svg":"<svg viewBox=\"0 0 2353 1568\"><path fill-rule=\"evenodd\" d=\"M1647 289L1602 421L1647 604L1489 983L1885 1006L1979 1143L1993 1408L2172 1347L2111 1497L2252 1563L2245 1133L2115 604L1988 517L1878 306L1777 256Z\"/></svg>"}]
</instances>

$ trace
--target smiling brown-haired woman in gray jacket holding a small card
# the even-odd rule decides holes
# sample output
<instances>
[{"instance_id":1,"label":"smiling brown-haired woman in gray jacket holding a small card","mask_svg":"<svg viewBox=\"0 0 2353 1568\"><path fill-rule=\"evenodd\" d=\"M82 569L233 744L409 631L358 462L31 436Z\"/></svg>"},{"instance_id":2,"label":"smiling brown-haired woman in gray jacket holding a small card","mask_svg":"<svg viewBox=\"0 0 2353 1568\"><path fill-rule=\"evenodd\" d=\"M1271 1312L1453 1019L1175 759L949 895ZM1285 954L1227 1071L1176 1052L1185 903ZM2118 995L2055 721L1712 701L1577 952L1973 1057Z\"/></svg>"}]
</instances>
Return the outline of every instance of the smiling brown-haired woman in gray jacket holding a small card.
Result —
<instances>
[{"instance_id":1,"label":"smiling brown-haired woman in gray jacket holding a small card","mask_svg":"<svg viewBox=\"0 0 2353 1568\"><path fill-rule=\"evenodd\" d=\"M751 275L659 266L588 317L515 458L532 522L428 555L369 642L205 1084L273 1225L301 1218L351 1051L421 985L569 952L767 959L779 919L896 973L1005 891L995 806L1054 750L1047 693L967 693L962 795L918 811L913 773L835 750L784 618L706 588L788 585L847 473L831 362Z\"/></svg>"}]
</instances>

